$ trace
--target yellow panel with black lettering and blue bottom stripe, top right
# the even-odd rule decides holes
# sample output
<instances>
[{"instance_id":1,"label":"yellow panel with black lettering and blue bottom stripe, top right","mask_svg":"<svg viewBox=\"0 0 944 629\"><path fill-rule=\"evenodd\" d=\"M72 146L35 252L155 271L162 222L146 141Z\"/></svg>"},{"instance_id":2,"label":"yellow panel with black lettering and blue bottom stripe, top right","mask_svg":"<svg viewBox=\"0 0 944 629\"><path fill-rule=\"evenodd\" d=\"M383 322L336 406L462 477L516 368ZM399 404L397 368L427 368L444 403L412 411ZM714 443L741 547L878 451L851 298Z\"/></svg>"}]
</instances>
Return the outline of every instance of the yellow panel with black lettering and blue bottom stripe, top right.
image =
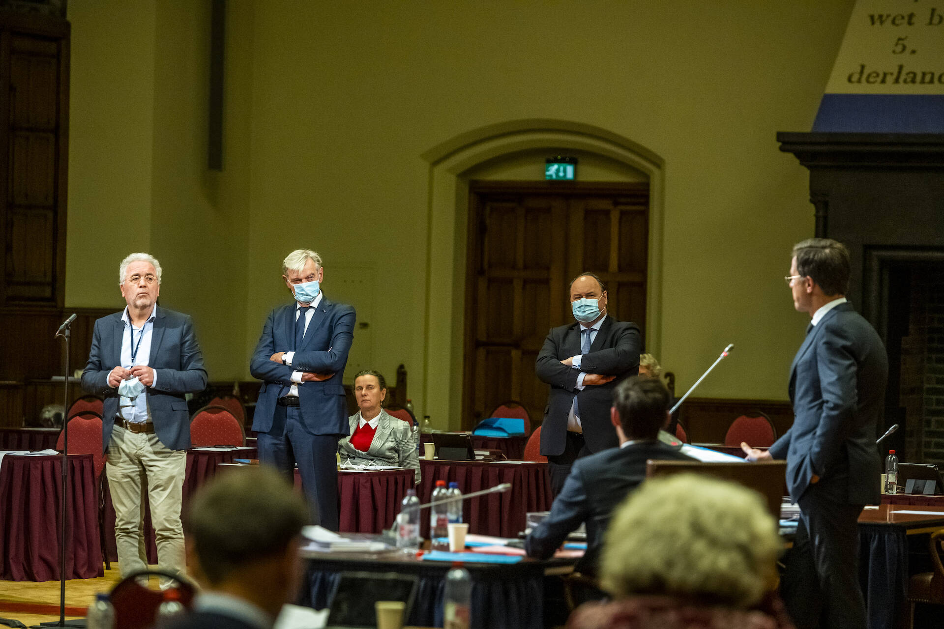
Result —
<instances>
[{"instance_id":1,"label":"yellow panel with black lettering and blue bottom stripe, top right","mask_svg":"<svg viewBox=\"0 0 944 629\"><path fill-rule=\"evenodd\" d=\"M944 0L857 0L813 131L944 133Z\"/></svg>"}]
</instances>

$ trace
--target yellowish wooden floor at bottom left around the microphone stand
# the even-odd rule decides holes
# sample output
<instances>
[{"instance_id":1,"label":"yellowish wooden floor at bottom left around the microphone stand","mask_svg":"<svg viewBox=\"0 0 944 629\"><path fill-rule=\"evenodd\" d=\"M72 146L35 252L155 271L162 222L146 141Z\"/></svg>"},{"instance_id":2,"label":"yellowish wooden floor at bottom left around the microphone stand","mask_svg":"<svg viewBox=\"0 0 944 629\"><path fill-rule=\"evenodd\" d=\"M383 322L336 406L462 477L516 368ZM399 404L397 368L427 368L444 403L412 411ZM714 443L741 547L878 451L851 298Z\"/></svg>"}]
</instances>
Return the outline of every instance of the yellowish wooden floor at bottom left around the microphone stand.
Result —
<instances>
[{"instance_id":1,"label":"yellowish wooden floor at bottom left around the microphone stand","mask_svg":"<svg viewBox=\"0 0 944 629\"><path fill-rule=\"evenodd\" d=\"M82 618L98 592L108 592L120 580L118 567L97 579L65 582L66 619ZM27 627L59 621L59 581L0 581L0 619L23 622ZM6 625L0 622L0 627Z\"/></svg>"}]
</instances>

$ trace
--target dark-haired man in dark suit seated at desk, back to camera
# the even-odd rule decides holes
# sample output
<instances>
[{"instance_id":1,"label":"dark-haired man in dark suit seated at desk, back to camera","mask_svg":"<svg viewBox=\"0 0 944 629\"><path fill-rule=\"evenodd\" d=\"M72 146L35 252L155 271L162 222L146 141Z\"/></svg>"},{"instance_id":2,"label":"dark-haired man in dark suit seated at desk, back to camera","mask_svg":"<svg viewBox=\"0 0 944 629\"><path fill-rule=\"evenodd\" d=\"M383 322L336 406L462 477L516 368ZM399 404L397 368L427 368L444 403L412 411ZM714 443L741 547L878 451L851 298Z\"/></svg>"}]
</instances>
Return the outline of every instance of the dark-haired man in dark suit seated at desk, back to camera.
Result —
<instances>
[{"instance_id":1,"label":"dark-haired man in dark suit seated at desk, back to camera","mask_svg":"<svg viewBox=\"0 0 944 629\"><path fill-rule=\"evenodd\" d=\"M587 552L577 568L584 574L596 574L610 516L645 480L646 461L692 460L680 452L680 446L659 440L659 430L669 421L668 399L666 386L654 378L629 378L615 388L610 422L619 447L574 463L550 515L525 539L528 556L547 559L585 522Z\"/></svg>"}]
</instances>

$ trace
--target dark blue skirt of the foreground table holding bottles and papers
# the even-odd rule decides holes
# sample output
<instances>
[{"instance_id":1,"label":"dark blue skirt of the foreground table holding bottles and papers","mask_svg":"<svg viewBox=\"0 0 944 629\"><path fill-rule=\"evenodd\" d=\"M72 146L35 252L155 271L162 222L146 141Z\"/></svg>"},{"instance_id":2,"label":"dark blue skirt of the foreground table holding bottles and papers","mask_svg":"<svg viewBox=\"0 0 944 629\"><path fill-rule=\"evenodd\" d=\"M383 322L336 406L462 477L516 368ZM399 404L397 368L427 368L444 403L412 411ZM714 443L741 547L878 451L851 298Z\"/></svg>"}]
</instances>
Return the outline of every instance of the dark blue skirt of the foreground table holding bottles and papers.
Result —
<instances>
[{"instance_id":1,"label":"dark blue skirt of the foreground table holding bottles and papers","mask_svg":"<svg viewBox=\"0 0 944 629\"><path fill-rule=\"evenodd\" d=\"M430 562L412 571L419 576L413 612L407 624L422 627L443 626L443 598L446 572L450 566ZM358 570L369 570L360 566ZM379 571L389 567L377 565ZM341 570L306 571L299 604L315 609L330 605L329 597L341 576ZM507 577L497 577L496 570L472 570L473 629L541 629L544 626L544 570L534 566L521 570L515 566ZM504 571L503 571L504 572ZM307 597L307 598L306 598Z\"/></svg>"}]
</instances>

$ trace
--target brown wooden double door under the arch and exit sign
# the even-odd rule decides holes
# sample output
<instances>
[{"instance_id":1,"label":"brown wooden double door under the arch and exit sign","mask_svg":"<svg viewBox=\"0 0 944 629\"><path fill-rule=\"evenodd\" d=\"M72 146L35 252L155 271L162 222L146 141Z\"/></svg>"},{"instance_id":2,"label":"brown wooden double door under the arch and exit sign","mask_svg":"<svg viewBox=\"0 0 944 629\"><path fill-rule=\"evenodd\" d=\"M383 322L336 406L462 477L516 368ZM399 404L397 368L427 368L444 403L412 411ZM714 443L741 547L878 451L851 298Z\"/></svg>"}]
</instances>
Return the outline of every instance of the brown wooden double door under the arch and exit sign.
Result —
<instances>
[{"instance_id":1,"label":"brown wooden double door under the arch and exit sign","mask_svg":"<svg viewBox=\"0 0 944 629\"><path fill-rule=\"evenodd\" d=\"M472 182L465 293L463 425L498 405L540 422L548 385L534 362L548 330L573 322L568 284L606 283L610 316L646 325L648 183Z\"/></svg>"}]
</instances>

